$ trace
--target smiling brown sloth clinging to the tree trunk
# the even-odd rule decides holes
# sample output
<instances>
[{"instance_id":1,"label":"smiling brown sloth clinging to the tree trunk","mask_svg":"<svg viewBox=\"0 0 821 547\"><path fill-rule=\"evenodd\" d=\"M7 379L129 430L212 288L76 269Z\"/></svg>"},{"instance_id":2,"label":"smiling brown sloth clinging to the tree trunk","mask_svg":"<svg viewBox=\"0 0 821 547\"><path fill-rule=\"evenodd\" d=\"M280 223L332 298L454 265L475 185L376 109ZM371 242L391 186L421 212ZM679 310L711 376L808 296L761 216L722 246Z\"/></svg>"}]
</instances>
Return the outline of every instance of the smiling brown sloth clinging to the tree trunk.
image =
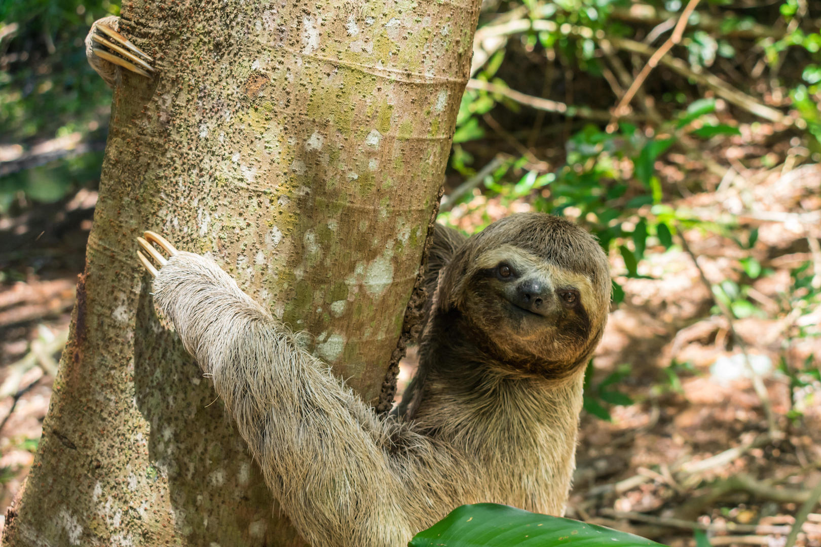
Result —
<instances>
[{"instance_id":1,"label":"smiling brown sloth clinging to the tree trunk","mask_svg":"<svg viewBox=\"0 0 821 547\"><path fill-rule=\"evenodd\" d=\"M387 417L211 258L138 238L154 303L311 545L406 545L461 504L564 512L607 258L585 230L542 213L468 239L434 230L420 367Z\"/></svg>"}]
</instances>

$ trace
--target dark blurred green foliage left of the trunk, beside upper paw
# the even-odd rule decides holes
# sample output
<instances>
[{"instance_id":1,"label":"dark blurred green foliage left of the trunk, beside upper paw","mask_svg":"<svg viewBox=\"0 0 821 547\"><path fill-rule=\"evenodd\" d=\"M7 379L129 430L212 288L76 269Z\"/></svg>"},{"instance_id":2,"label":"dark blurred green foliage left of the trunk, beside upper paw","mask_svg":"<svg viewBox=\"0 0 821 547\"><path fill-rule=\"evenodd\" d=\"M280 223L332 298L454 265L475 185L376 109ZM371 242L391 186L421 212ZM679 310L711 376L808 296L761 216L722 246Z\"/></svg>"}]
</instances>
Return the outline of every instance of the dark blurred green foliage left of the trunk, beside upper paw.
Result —
<instances>
[{"instance_id":1,"label":"dark blurred green foliage left of the trunk, beside upper paw","mask_svg":"<svg viewBox=\"0 0 821 547\"><path fill-rule=\"evenodd\" d=\"M111 91L83 39L117 13L108 0L0 2L0 213L99 180Z\"/></svg>"}]
</instances>

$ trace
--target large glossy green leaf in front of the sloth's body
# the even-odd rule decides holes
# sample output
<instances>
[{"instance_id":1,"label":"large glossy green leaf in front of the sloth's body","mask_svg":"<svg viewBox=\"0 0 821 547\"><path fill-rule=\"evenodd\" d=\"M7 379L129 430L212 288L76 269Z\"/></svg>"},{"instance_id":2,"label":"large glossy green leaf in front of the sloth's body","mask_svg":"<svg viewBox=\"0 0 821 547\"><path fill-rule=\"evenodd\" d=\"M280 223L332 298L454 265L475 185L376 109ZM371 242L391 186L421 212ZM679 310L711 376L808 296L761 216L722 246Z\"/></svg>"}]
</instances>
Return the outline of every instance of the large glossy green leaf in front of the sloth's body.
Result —
<instances>
[{"instance_id":1,"label":"large glossy green leaf in front of the sloth's body","mask_svg":"<svg viewBox=\"0 0 821 547\"><path fill-rule=\"evenodd\" d=\"M570 518L548 517L498 504L462 505L442 521L414 536L410 547L646 547L661 545L643 537L585 524Z\"/></svg>"}]
</instances>

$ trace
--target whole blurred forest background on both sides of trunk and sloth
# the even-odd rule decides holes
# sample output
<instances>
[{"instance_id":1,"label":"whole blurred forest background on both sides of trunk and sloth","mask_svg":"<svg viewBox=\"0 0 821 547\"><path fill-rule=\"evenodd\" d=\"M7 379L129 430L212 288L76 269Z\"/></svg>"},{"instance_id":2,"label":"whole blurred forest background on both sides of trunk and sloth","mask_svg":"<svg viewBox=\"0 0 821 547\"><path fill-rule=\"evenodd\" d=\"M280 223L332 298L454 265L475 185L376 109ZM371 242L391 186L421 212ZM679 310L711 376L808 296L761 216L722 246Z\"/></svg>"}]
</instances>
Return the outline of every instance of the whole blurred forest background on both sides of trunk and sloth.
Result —
<instances>
[{"instance_id":1,"label":"whole blurred forest background on both sides of trunk and sloth","mask_svg":"<svg viewBox=\"0 0 821 547\"><path fill-rule=\"evenodd\" d=\"M2 510L97 198L111 92L83 39L118 11L0 0ZM810 0L484 2L440 221L561 214L611 259L568 516L669 545L821 545L819 28Z\"/></svg>"}]
</instances>

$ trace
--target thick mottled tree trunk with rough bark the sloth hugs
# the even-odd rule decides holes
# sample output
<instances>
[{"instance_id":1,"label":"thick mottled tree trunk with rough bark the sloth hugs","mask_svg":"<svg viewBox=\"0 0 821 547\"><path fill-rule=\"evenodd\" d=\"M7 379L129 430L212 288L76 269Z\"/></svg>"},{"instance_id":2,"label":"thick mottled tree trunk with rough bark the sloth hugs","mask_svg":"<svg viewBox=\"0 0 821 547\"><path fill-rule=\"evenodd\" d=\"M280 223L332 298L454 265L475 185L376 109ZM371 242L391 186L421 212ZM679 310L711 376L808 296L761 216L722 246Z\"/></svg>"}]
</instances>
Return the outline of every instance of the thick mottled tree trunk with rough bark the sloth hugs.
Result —
<instances>
[{"instance_id":1,"label":"thick mottled tree trunk with rough bark the sloth hugs","mask_svg":"<svg viewBox=\"0 0 821 547\"><path fill-rule=\"evenodd\" d=\"M71 336L4 544L300 545L136 260L211 253L375 403L470 68L479 1L124 2Z\"/></svg>"}]
</instances>

